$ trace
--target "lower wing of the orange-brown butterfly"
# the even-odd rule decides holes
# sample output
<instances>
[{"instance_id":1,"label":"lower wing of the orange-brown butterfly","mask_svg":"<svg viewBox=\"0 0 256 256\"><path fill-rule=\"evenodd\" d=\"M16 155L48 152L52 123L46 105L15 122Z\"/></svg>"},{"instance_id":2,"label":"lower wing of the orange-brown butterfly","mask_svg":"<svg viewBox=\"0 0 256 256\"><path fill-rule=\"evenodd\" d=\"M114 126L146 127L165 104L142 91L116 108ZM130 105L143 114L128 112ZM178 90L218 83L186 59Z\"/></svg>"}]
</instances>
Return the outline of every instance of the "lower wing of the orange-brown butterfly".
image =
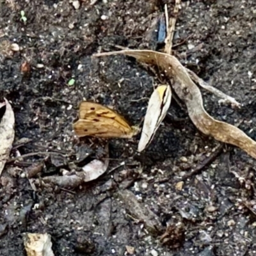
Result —
<instances>
[{"instance_id":1,"label":"lower wing of the orange-brown butterfly","mask_svg":"<svg viewBox=\"0 0 256 256\"><path fill-rule=\"evenodd\" d=\"M79 119L73 127L78 137L131 138L134 135L132 127L123 127L115 120L102 116Z\"/></svg>"}]
</instances>

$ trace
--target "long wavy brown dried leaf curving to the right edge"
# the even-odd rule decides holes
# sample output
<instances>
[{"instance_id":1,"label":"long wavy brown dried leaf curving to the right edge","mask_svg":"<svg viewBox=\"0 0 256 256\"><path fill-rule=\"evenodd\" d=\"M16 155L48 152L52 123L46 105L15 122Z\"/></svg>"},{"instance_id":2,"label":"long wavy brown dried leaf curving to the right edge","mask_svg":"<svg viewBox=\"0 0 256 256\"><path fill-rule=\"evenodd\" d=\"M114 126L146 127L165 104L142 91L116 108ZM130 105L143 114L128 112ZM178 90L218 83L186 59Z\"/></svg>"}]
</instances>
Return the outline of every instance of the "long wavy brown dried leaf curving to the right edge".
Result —
<instances>
[{"instance_id":1,"label":"long wavy brown dried leaf curving to the right edge","mask_svg":"<svg viewBox=\"0 0 256 256\"><path fill-rule=\"evenodd\" d=\"M234 125L212 118L204 109L202 95L196 84L189 77L186 68L170 54L148 50L125 50L103 52L95 57L124 54L150 65L156 65L170 78L172 88L180 99L184 100L193 124L204 134L218 141L235 145L256 159L256 142Z\"/></svg>"}]
</instances>

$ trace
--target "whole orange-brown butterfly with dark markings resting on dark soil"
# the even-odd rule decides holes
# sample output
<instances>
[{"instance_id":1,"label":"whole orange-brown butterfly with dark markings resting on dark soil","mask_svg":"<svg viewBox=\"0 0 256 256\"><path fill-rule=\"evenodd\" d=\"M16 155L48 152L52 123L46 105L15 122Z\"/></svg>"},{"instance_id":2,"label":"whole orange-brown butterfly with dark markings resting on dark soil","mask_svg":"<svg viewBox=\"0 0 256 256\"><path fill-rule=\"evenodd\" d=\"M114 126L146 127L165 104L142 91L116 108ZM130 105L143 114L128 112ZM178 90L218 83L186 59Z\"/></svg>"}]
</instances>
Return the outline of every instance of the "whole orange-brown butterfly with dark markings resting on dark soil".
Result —
<instances>
[{"instance_id":1,"label":"whole orange-brown butterfly with dark markings resting on dark soil","mask_svg":"<svg viewBox=\"0 0 256 256\"><path fill-rule=\"evenodd\" d=\"M78 137L132 138L140 129L130 126L125 118L113 109L94 102L81 102L79 120L73 124Z\"/></svg>"}]
</instances>

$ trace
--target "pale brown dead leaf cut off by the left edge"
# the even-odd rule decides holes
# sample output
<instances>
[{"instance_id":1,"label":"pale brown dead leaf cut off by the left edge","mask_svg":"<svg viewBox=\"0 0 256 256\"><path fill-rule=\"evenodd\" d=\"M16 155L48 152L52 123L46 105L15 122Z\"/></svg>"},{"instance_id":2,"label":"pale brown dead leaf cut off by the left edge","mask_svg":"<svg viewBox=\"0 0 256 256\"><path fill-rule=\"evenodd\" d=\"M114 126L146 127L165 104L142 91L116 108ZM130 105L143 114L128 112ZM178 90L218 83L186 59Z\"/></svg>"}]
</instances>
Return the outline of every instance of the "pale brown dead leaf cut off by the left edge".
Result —
<instances>
[{"instance_id":1,"label":"pale brown dead leaf cut off by the left edge","mask_svg":"<svg viewBox=\"0 0 256 256\"><path fill-rule=\"evenodd\" d=\"M3 171L4 164L8 160L10 151L12 149L12 143L14 140L14 113L12 110L12 106L8 102L8 100L5 100L5 104L1 104L0 108L4 105L6 106L6 111L3 115L3 118L0 122L0 175Z\"/></svg>"}]
</instances>

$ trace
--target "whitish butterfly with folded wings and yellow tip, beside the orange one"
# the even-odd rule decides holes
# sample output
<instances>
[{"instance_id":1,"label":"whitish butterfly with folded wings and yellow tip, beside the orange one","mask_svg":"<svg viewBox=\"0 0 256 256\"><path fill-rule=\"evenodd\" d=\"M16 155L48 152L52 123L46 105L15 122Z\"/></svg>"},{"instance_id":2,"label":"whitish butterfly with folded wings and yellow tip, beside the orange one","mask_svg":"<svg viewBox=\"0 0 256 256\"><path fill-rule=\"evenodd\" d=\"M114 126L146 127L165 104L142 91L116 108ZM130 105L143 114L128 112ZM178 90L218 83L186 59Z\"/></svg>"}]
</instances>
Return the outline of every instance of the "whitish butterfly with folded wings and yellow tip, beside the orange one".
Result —
<instances>
[{"instance_id":1,"label":"whitish butterfly with folded wings and yellow tip, beside the orange one","mask_svg":"<svg viewBox=\"0 0 256 256\"><path fill-rule=\"evenodd\" d=\"M153 140L156 131L163 121L172 100L172 91L170 86L161 85L154 90L149 101L147 113L143 122L141 138L138 145L138 151L144 150Z\"/></svg>"}]
</instances>

